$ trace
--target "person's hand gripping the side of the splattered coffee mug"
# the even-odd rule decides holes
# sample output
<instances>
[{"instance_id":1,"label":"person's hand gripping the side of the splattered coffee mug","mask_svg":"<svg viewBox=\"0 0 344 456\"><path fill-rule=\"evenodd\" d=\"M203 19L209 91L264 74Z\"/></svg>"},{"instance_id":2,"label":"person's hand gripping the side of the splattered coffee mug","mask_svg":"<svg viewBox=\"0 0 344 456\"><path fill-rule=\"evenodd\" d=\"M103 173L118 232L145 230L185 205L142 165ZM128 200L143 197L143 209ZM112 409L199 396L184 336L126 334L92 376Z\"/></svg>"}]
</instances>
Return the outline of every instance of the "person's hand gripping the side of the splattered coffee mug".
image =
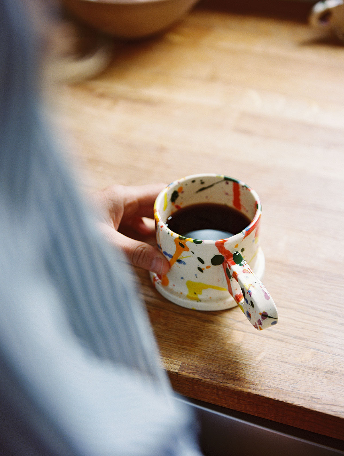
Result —
<instances>
[{"instance_id":1,"label":"person's hand gripping the side of the splattered coffee mug","mask_svg":"<svg viewBox=\"0 0 344 456\"><path fill-rule=\"evenodd\" d=\"M154 228L148 227L142 217L154 218L154 201L164 187L112 185L93 194L94 206L101 215L99 228L105 238L123 250L131 264L156 274L166 274L170 264L158 249L139 239L154 234ZM130 233L130 237L125 233Z\"/></svg>"}]
</instances>

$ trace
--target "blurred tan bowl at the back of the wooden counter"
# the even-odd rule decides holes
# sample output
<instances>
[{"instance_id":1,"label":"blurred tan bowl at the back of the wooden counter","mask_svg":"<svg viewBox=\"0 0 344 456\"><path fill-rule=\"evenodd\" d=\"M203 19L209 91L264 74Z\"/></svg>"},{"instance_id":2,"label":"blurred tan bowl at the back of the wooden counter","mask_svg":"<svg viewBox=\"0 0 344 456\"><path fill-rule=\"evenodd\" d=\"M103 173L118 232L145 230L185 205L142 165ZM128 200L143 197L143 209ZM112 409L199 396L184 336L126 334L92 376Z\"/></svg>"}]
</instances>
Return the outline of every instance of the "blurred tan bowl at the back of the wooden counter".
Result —
<instances>
[{"instance_id":1,"label":"blurred tan bowl at the back of the wooden counter","mask_svg":"<svg viewBox=\"0 0 344 456\"><path fill-rule=\"evenodd\" d=\"M63 0L88 25L120 38L142 38L166 29L198 0Z\"/></svg>"}]
</instances>

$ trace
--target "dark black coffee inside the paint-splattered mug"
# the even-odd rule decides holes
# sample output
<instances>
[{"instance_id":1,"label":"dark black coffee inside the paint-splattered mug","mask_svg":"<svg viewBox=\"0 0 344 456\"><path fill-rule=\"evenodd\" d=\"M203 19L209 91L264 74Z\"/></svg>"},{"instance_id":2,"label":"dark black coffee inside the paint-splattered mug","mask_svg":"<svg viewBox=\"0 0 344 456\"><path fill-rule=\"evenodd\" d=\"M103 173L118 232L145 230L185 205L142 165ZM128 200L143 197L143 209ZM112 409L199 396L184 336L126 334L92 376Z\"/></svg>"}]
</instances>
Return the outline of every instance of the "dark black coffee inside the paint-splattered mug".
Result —
<instances>
[{"instance_id":1,"label":"dark black coffee inside the paint-splattered mug","mask_svg":"<svg viewBox=\"0 0 344 456\"><path fill-rule=\"evenodd\" d=\"M216 241L240 233L250 222L234 207L203 203L179 209L167 218L165 224L174 233L186 238Z\"/></svg>"}]
</instances>

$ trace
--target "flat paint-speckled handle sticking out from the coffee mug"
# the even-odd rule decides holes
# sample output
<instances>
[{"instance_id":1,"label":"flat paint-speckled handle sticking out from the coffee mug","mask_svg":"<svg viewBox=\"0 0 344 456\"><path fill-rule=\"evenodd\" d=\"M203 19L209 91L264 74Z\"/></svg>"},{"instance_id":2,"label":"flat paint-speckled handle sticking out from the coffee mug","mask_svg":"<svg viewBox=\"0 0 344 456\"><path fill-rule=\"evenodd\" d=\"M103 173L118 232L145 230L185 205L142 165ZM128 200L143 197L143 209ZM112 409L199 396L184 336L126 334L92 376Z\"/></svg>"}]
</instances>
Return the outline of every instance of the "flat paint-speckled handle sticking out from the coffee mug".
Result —
<instances>
[{"instance_id":1,"label":"flat paint-speckled handle sticking out from the coffee mug","mask_svg":"<svg viewBox=\"0 0 344 456\"><path fill-rule=\"evenodd\" d=\"M233 253L233 260L227 262L226 273L229 292L250 323L258 330L276 325L276 305L240 252Z\"/></svg>"}]
</instances>

